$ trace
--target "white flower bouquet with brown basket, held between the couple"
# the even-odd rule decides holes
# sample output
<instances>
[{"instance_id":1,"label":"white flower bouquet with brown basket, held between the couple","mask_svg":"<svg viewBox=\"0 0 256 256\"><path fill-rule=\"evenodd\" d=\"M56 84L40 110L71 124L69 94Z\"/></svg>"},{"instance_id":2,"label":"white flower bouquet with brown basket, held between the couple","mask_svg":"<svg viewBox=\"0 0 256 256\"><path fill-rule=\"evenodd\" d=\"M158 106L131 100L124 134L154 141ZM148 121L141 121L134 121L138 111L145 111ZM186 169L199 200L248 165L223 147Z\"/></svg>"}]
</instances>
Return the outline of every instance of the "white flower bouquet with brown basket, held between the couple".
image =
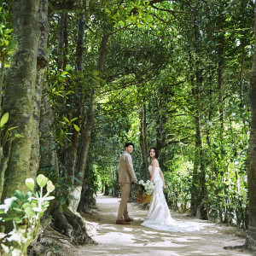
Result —
<instances>
[{"instance_id":1,"label":"white flower bouquet with brown basket, held between the couple","mask_svg":"<svg viewBox=\"0 0 256 256\"><path fill-rule=\"evenodd\" d=\"M137 183L137 199L136 201L138 203L147 203L151 201L151 194L154 191L154 183L147 180L144 182L143 180L140 180Z\"/></svg>"}]
</instances>

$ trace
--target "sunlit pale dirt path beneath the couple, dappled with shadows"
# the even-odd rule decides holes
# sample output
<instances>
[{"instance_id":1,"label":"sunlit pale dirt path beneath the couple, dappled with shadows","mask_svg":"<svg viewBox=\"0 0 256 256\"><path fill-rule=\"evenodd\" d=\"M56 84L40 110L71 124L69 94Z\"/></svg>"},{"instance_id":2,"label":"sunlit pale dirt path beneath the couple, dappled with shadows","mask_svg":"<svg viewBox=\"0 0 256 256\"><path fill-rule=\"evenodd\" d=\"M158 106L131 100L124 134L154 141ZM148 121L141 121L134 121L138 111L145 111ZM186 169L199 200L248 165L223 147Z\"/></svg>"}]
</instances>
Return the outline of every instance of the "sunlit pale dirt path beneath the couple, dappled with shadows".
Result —
<instances>
[{"instance_id":1,"label":"sunlit pale dirt path beneath the couple, dappled with shadows","mask_svg":"<svg viewBox=\"0 0 256 256\"><path fill-rule=\"evenodd\" d=\"M130 225L115 224L119 198L98 195L99 211L84 214L90 234L97 245L73 247L68 256L77 255L254 255L239 250L224 250L224 246L244 243L235 236L236 229L213 224L183 214L172 213L177 220L197 222L204 229L189 233L151 230L141 226L147 211L130 203L128 211L134 221Z\"/></svg>"}]
</instances>

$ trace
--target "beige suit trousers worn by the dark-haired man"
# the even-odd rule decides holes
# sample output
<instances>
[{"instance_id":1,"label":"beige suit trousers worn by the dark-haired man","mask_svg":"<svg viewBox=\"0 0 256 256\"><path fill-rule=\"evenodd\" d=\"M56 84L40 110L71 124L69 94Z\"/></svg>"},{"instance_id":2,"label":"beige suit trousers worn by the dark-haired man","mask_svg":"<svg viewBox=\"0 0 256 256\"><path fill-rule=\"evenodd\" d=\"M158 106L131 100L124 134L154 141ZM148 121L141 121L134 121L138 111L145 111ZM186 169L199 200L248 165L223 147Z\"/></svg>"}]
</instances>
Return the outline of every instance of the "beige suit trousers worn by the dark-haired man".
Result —
<instances>
[{"instance_id":1,"label":"beige suit trousers worn by the dark-haired man","mask_svg":"<svg viewBox=\"0 0 256 256\"><path fill-rule=\"evenodd\" d=\"M131 192L131 183L120 183L121 201L119 204L118 220L129 218L127 212L127 202L129 201Z\"/></svg>"}]
</instances>

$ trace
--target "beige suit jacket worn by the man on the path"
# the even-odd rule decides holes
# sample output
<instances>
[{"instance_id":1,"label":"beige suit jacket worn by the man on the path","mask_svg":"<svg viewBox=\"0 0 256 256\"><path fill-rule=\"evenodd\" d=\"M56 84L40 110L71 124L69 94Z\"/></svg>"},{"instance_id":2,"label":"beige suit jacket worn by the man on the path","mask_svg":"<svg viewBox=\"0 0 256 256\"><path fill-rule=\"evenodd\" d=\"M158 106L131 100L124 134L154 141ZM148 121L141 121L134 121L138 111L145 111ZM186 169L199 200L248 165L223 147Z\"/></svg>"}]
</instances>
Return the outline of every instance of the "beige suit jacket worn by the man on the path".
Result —
<instances>
[{"instance_id":1,"label":"beige suit jacket worn by the man on the path","mask_svg":"<svg viewBox=\"0 0 256 256\"><path fill-rule=\"evenodd\" d=\"M125 150L119 158L119 183L132 183L137 180L133 170L131 154Z\"/></svg>"}]
</instances>

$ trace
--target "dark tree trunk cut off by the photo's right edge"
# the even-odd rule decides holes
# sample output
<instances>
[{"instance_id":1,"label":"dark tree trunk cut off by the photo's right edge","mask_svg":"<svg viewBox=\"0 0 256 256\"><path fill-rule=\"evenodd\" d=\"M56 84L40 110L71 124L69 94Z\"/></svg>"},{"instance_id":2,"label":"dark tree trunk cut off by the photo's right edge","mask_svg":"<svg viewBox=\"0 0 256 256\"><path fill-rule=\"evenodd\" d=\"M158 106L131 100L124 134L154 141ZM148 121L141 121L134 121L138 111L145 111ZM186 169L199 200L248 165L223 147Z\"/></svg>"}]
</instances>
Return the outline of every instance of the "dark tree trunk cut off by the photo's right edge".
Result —
<instances>
[{"instance_id":1,"label":"dark tree trunk cut off by the photo's right edge","mask_svg":"<svg viewBox=\"0 0 256 256\"><path fill-rule=\"evenodd\" d=\"M256 42L256 10L254 19L254 38ZM256 251L256 48L254 49L253 55L250 100L252 111L252 126L247 153L249 224L247 230L246 246L247 248Z\"/></svg>"}]
</instances>

